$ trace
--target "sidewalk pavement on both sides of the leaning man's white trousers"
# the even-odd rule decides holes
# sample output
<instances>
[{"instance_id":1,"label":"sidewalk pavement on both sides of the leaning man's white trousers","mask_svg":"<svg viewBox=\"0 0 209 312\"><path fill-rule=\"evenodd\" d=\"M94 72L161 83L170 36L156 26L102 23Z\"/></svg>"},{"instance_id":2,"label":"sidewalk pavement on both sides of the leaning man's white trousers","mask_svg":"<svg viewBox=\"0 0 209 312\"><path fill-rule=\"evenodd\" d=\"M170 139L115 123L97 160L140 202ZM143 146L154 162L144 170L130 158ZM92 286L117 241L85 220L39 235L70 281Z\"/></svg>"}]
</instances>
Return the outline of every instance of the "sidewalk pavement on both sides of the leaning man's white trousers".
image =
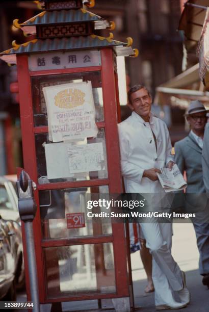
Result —
<instances>
[{"instance_id":1,"label":"sidewalk pavement on both sides of the leaning man's white trousers","mask_svg":"<svg viewBox=\"0 0 209 312\"><path fill-rule=\"evenodd\" d=\"M181 270L186 272L187 287L191 292L191 303L185 312L208 312L209 290L202 284L202 276L198 272L199 252L196 236L191 223L173 224L172 254ZM154 294L145 294L146 274L139 252L132 254L132 276L134 280L135 306L142 312L155 311ZM180 311L180 310L172 310Z\"/></svg>"}]
</instances>

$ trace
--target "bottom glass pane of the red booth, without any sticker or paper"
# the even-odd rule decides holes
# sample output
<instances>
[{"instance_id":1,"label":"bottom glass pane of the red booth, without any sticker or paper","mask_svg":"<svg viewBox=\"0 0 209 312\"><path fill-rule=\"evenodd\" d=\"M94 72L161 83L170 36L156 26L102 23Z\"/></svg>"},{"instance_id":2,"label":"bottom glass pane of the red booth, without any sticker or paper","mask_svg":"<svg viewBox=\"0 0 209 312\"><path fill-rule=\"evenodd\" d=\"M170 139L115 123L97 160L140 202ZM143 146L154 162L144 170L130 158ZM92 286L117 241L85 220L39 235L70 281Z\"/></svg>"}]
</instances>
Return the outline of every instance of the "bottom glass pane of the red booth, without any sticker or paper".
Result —
<instances>
[{"instance_id":1,"label":"bottom glass pane of the red booth, without any sticker or paper","mask_svg":"<svg viewBox=\"0 0 209 312\"><path fill-rule=\"evenodd\" d=\"M44 248L47 297L116 292L113 244Z\"/></svg>"}]
</instances>

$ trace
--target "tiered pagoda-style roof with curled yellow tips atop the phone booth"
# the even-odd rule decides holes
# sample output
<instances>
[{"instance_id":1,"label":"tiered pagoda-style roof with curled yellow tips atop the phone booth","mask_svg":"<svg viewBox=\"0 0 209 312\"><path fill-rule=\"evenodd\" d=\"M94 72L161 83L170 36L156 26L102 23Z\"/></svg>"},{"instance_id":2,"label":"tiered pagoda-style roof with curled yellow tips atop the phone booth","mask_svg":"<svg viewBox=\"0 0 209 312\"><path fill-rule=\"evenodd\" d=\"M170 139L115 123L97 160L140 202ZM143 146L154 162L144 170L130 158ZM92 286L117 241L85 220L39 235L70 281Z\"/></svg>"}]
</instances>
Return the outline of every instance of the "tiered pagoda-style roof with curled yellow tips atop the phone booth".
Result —
<instances>
[{"instance_id":1,"label":"tiered pagoda-style roof with curled yellow tips atop the phone booth","mask_svg":"<svg viewBox=\"0 0 209 312\"><path fill-rule=\"evenodd\" d=\"M23 44L14 41L12 48L0 53L0 58L16 64L16 55L20 54L102 47L112 47L117 56L138 56L138 50L132 48L132 38L127 38L125 43L113 40L112 33L107 38L94 35L94 29L114 30L115 23L81 8L84 2L89 7L94 6L94 0L45 0L45 11L22 23L15 19L16 28L22 29L24 34L36 34L37 39ZM59 9L52 9L54 7Z\"/></svg>"}]
</instances>

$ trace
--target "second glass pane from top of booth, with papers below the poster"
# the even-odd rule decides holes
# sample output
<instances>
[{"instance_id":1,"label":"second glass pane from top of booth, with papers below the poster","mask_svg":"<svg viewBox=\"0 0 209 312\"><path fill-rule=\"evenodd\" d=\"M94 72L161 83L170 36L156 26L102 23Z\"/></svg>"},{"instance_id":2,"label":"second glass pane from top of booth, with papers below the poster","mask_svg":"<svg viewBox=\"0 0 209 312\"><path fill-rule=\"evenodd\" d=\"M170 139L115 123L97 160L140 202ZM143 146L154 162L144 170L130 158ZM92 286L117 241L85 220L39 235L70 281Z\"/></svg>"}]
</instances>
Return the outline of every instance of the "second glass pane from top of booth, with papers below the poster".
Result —
<instances>
[{"instance_id":1,"label":"second glass pane from top of booth, with papers below the poster","mask_svg":"<svg viewBox=\"0 0 209 312\"><path fill-rule=\"evenodd\" d=\"M96 138L73 140L66 143L52 143L48 134L36 134L36 159L39 184L64 181L105 179L108 177L105 130L99 129ZM47 143L51 143L50 150ZM94 145L94 143L97 143ZM82 153L81 148L95 147L93 152ZM71 149L71 152L69 152ZM96 152L94 152L96 151ZM86 165L87 164L87 165ZM99 168L87 171L84 168Z\"/></svg>"}]
</instances>

